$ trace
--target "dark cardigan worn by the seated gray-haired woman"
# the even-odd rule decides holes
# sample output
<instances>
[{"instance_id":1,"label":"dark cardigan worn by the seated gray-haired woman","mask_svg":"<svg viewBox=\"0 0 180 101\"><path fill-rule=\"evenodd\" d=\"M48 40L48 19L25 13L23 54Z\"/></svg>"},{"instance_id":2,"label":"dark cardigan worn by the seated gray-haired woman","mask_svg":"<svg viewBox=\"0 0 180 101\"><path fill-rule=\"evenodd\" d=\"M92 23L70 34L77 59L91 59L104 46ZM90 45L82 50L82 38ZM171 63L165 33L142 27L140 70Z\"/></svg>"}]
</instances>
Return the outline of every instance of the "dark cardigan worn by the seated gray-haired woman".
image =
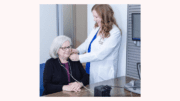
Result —
<instances>
[{"instance_id":1,"label":"dark cardigan worn by the seated gray-haired woman","mask_svg":"<svg viewBox=\"0 0 180 101\"><path fill-rule=\"evenodd\" d=\"M82 64L77 61L71 61L68 59L73 77L82 82L83 85L89 84L89 74L86 73ZM70 72L70 71L69 71ZM70 72L71 73L71 72ZM67 71L64 67L62 67L59 63L58 59L49 59L46 62L44 73L43 73L43 84L44 84L44 92L43 95L55 93L62 91L63 85L67 85L68 77ZM70 77L70 82L75 82L75 80Z\"/></svg>"}]
</instances>

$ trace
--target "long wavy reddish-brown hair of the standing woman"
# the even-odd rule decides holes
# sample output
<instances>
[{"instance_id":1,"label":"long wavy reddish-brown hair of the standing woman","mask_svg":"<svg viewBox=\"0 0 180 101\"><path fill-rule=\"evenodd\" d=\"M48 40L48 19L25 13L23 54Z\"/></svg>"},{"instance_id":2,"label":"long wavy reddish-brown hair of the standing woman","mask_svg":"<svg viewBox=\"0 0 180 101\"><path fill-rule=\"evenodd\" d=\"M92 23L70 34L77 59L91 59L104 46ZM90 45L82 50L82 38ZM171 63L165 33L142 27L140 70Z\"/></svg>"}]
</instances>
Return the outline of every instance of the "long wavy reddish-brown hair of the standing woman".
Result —
<instances>
[{"instance_id":1,"label":"long wavy reddish-brown hair of the standing woman","mask_svg":"<svg viewBox=\"0 0 180 101\"><path fill-rule=\"evenodd\" d=\"M118 27L111 6L108 4L96 4L92 7L91 11L93 10L95 10L102 19L102 30L100 31L100 33L103 33L103 38L108 38L110 36L109 31L112 29L113 24L115 24ZM94 27L98 27L98 24L95 23ZM120 28L119 30L121 31Z\"/></svg>"}]
</instances>

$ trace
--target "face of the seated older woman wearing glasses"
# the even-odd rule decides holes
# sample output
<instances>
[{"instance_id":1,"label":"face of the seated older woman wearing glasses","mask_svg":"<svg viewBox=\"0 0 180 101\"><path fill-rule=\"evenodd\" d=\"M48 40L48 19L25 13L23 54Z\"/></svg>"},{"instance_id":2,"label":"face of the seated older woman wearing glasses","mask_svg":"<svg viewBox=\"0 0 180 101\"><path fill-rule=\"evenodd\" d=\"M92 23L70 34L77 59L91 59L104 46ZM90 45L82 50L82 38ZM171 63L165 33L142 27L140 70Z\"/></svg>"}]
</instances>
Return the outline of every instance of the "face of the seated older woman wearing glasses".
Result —
<instances>
[{"instance_id":1,"label":"face of the seated older woman wearing glasses","mask_svg":"<svg viewBox=\"0 0 180 101\"><path fill-rule=\"evenodd\" d=\"M60 58L67 59L71 54L70 42L66 41L62 44L61 48L59 48L58 55Z\"/></svg>"}]
</instances>

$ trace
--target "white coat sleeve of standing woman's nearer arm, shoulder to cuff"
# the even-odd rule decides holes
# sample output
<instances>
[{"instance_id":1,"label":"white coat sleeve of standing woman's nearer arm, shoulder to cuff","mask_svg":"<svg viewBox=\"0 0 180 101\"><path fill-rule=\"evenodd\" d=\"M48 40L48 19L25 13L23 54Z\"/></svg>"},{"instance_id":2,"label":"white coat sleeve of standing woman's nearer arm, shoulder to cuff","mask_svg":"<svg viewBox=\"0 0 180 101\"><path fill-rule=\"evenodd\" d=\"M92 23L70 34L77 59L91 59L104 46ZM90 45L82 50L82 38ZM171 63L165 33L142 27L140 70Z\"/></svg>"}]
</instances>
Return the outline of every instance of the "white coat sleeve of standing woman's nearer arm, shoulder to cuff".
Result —
<instances>
[{"instance_id":1,"label":"white coat sleeve of standing woman's nearer arm, shoulder to cuff","mask_svg":"<svg viewBox=\"0 0 180 101\"><path fill-rule=\"evenodd\" d=\"M120 31L113 32L111 36L103 43L99 50L79 55L80 62L84 63L103 60L113 52L113 50L118 46L118 44L120 44L120 40Z\"/></svg>"}]
</instances>

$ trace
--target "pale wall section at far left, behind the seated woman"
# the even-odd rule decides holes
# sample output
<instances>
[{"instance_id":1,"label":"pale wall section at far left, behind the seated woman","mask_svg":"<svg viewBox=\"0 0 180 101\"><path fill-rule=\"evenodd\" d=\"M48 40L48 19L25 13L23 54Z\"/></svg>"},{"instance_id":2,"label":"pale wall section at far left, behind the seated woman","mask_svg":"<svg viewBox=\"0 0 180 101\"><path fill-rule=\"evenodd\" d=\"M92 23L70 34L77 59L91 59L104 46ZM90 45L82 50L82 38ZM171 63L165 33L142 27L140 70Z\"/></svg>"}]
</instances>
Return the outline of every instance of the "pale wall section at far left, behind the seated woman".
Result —
<instances>
[{"instance_id":1,"label":"pale wall section at far left, behind the seated woman","mask_svg":"<svg viewBox=\"0 0 180 101\"><path fill-rule=\"evenodd\" d=\"M50 58L49 49L56 31L56 5L40 5L40 64Z\"/></svg>"}]
</instances>

